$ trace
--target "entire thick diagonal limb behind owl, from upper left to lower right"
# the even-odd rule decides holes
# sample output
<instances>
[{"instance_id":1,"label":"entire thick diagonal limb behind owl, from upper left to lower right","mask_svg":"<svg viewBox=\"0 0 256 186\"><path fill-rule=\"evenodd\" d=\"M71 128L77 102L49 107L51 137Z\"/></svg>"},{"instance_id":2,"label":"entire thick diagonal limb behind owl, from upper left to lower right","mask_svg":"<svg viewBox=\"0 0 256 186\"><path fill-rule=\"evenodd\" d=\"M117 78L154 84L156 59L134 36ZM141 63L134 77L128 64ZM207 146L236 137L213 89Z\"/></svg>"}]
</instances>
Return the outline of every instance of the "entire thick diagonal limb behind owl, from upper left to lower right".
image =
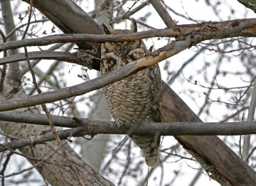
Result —
<instances>
[{"instance_id":1,"label":"entire thick diagonal limb behind owl, from upper left to lower right","mask_svg":"<svg viewBox=\"0 0 256 186\"><path fill-rule=\"evenodd\" d=\"M58 5L58 11L54 9L54 4ZM65 12L65 3L70 8L71 15L59 15L60 12ZM76 33L83 33L84 29L81 27L82 22L88 24L92 22L90 17L86 17L86 13L82 12L79 8L76 8L75 4L70 1L34 1L34 5L38 10L45 13L45 15L54 22L58 27L61 28L65 33L70 33L72 28L81 28L76 30ZM62 11L60 11L62 9ZM77 15L75 12L79 12ZM58 12L58 16L56 16ZM83 18L81 15L83 15ZM72 23L70 19L65 19L65 16L72 16ZM58 17L58 19L56 19ZM74 19L76 17L76 19ZM77 21L74 21L77 20ZM76 26L77 24L77 26ZM79 24L79 26L78 26ZM102 29L92 22L90 24L91 33L102 33ZM86 30L88 31L88 29ZM90 31L88 31L90 33ZM97 49L93 43L78 43L81 47L88 47L90 49ZM99 61L95 61L96 63ZM99 64L98 64L99 65ZM95 66L97 66L95 64ZM19 95L18 95L19 96ZM175 121L200 121L200 119L193 113L188 105L186 105L178 95L176 95L172 89L164 84L164 121L175 122ZM180 112L181 111L181 112ZM193 157L204 167L204 169L211 175L211 177L222 185L255 185L255 172L249 167L243 160L241 160L236 153L234 153L228 146L223 143L216 136L175 136L182 146L188 150Z\"/></svg>"}]
</instances>

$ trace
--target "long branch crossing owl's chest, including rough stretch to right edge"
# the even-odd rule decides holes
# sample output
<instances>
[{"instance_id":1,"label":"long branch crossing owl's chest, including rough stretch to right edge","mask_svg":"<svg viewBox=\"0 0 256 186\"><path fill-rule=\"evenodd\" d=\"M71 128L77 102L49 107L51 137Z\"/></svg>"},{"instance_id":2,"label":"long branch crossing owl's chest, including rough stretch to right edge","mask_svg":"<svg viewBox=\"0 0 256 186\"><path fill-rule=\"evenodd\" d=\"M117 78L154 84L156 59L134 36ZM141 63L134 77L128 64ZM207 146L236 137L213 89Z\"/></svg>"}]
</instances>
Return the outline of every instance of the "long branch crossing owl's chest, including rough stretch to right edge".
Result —
<instances>
[{"instance_id":1,"label":"long branch crossing owl's chest, including rough stretch to right edge","mask_svg":"<svg viewBox=\"0 0 256 186\"><path fill-rule=\"evenodd\" d=\"M207 33L209 33L209 30L211 30L212 27L204 28L204 32L194 32L193 37L188 35L186 36L186 38L182 38L181 41L173 41L165 47L154 51L151 54L152 56L145 56L144 58L138 59L137 61L122 66L117 70L113 70L113 72L102 75L101 77L92 79L91 81L83 82L82 84L78 84L76 86L71 86L68 88L58 89L49 93L42 93L40 95L33 95L26 98L15 98L12 100L7 100L6 102L1 102L0 111L8 111L21 107L29 107L43 103L55 102L57 100L63 100L65 98L83 95L95 89L103 88L104 86L124 79L125 77L134 74L139 70L143 70L144 68L155 65L156 63L159 63L164 59L170 58L171 56L174 56L182 50L188 49L188 47L190 47L191 45L202 42L202 40L207 40L211 38L223 38L230 33L234 35L238 32L241 32L241 29L255 25L256 19L249 20L245 23L242 22L241 24L237 22L237 20L234 20L234 22L229 22L229 24L231 24L231 29L227 29L225 27L225 30L223 30L222 28L221 30L218 30L215 33L211 33L208 35Z\"/></svg>"}]
</instances>

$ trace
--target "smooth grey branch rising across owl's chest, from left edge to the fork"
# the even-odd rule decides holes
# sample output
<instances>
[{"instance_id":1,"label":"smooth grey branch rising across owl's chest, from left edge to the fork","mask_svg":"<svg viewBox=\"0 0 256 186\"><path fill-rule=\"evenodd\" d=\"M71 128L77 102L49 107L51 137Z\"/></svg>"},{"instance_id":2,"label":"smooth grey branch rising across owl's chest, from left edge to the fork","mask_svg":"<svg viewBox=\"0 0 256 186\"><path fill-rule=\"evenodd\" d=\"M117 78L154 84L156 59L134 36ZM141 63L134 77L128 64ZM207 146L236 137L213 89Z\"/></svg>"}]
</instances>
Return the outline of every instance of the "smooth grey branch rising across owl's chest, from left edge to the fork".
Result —
<instances>
[{"instance_id":1,"label":"smooth grey branch rising across owl's chest, from left edge to the fork","mask_svg":"<svg viewBox=\"0 0 256 186\"><path fill-rule=\"evenodd\" d=\"M189 41L172 42L171 45L165 48L167 50L159 51L158 56L146 56L145 58L138 59L137 61L122 66L121 68L118 68L118 70L114 70L113 72L92 79L91 81L83 82L76 86L58 89L56 91L42 93L40 95L7 100L6 102L1 103L0 111L17 109L20 107L29 107L31 105L49 103L77 95L83 95L84 93L103 88L108 84L119 81L120 79L124 79L130 74L147 68L148 66L152 66L159 61L163 61L164 59L187 49L189 45L191 45L191 42Z\"/></svg>"}]
</instances>

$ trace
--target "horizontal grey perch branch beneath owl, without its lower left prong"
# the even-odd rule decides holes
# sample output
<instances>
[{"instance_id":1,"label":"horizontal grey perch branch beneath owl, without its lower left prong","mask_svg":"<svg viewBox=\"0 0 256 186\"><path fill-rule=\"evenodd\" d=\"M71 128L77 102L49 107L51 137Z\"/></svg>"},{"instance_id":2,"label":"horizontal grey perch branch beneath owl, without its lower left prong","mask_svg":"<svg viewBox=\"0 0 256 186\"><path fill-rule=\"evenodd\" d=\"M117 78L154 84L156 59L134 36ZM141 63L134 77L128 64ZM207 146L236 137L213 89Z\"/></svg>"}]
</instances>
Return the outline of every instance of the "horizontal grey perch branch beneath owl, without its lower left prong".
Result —
<instances>
[{"instance_id":1,"label":"horizontal grey perch branch beneath owl, without its lower left prong","mask_svg":"<svg viewBox=\"0 0 256 186\"><path fill-rule=\"evenodd\" d=\"M49 121L45 114L31 112L0 112L1 121L29 123L35 125L47 125ZM86 118L65 117L52 115L52 121L56 127L77 128L84 127L81 134L128 134L129 128L116 127L115 121L97 121ZM79 121L77 123L77 121ZM134 127L132 134L154 135L159 132L161 136L229 136L256 134L256 121L228 122L228 123L203 123L203 122L173 122L173 123L149 123ZM17 124L18 125L18 124ZM160 127L159 127L160 126ZM75 135L75 134L74 134ZM67 136L68 137L68 136Z\"/></svg>"}]
</instances>

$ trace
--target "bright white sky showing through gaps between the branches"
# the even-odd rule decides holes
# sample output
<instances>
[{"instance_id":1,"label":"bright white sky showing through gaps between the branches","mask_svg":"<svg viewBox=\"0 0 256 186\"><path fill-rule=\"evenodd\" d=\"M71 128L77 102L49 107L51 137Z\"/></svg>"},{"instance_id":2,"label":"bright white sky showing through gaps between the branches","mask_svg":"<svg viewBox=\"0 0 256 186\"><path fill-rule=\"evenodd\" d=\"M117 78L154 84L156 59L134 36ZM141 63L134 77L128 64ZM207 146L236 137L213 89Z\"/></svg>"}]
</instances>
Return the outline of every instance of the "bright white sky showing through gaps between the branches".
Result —
<instances>
[{"instance_id":1,"label":"bright white sky showing through gaps between the branches","mask_svg":"<svg viewBox=\"0 0 256 186\"><path fill-rule=\"evenodd\" d=\"M90 2L90 3L88 3L88 2ZM85 12L92 11L94 9L94 4L92 2L93 1L83 1L81 8L83 8L83 10ZM220 13L220 17L216 16L216 13L214 13L212 11L212 8L207 6L207 4L205 4L205 1L203 1L203 0L198 1L198 2L191 1L191 0L165 1L165 2L176 12L184 14L186 11L186 13L188 13L189 17L191 17L192 19L195 19L195 20L199 20L199 22L201 22L201 20L202 21L210 21L210 20L221 21L221 20L229 20L229 19L243 19L243 18L255 17L255 13L253 13L251 10L248 10L247 8L244 8L244 6L240 3L237 3L236 0L221 1L221 3L224 5L220 6L221 10L219 10L219 8L217 9L217 11ZM211 2L215 2L215 1L211 1ZM16 4L16 3L17 3L17 1L12 1L13 7L14 7L14 4ZM24 10L28 7L28 4L26 4L26 3L21 3L21 4L22 4L22 6L20 6L20 10ZM225 5L225 4L227 4L227 5ZM232 15L232 17L228 17L228 15L230 15L230 4L232 4L232 8L234 8L234 10L235 10L235 13L234 13L234 15ZM182 6L184 8L182 8ZM161 20L161 18L159 17L159 15L156 13L156 11L154 10L154 8L152 6L146 6L145 8L143 8L143 10L140 10L140 13L136 13L132 17L134 17L134 19L138 19L139 17L141 17L141 13L143 14L142 16L144 16L147 12L152 12L152 14L148 17L148 20L147 20L148 25L156 27L157 29L166 27L164 25L163 20ZM195 23L195 22L192 22L192 21L189 21L186 19L182 19L182 17L178 17L177 15L173 14L172 12L170 12L170 15L172 16L172 18L174 20L179 21L178 24ZM22 22L24 23L26 21L27 21L27 19L24 19ZM15 22L19 22L19 19L17 19L17 17L15 18ZM50 22L45 23L44 28L40 32L42 33L44 30L50 31L51 27L52 27L52 24ZM130 22L129 21L122 22L118 25L115 25L115 28L129 29ZM61 33L61 31L58 31L57 28L55 30L56 30L55 34ZM138 31L143 31L143 30L145 30L145 27L138 26ZM50 34L49 32L47 32L47 33ZM40 35L40 36L45 36L45 35ZM158 49L158 48L166 45L168 40L166 40L166 38L162 38L161 40L157 40L157 38L152 38L152 39L144 40L144 42L148 48L151 45L154 45L154 49ZM48 47L49 46L41 47L41 48L47 49ZM38 50L38 48L37 47L29 47L29 50ZM168 59L168 61L170 61L170 68L179 70L180 66L185 61L187 61L189 58L191 58L191 56L193 56L193 54L195 54L195 52L197 50L198 49L196 47L191 47L191 49L180 52L180 54L177 54L177 55L173 56L172 58ZM20 49L20 51L22 51L22 49ZM74 51L76 51L76 50L74 50ZM214 59L216 58L216 55L214 55L213 53L214 52L206 51L206 52L203 52L203 54L198 56L196 59L194 59L194 61L192 63L190 63L188 66L186 66L186 68L184 69L184 71L183 71L184 77L188 78L190 75L193 75L192 81L196 80L196 81L200 82L201 84L204 84L205 86L209 86L209 84L206 84L206 82L204 80L204 74L198 74L196 72L197 72L197 70L200 70L205 65L204 61L209 61L210 64L212 61L214 61ZM230 54L230 56L232 56L232 55L233 54ZM161 67L162 79L164 81L167 80L166 72L163 70L165 63L166 63L165 61L162 61L161 63L159 63L159 65ZM50 66L50 64L51 64L50 61L42 61L38 66L40 67L40 69L42 71L46 72L46 70ZM64 65L63 65L63 68L61 68L61 72L63 72L65 74L67 86L72 86L72 85L84 82L81 78L77 77L77 74L83 73L83 72L81 72L81 66L76 65L76 66L72 67L71 64L68 64L68 63L63 63L63 64ZM225 64L226 65L221 66L221 68L227 68L228 70L236 71L237 69L239 69L241 67L241 66L237 65L237 64L241 65L241 63L236 63L236 58L232 58L232 63L225 63ZM211 76L211 70L208 72L209 72L209 74L207 74L207 75ZM93 79L96 77L95 70L91 70L91 71L89 70L88 73L90 75L90 79ZM214 73L214 69L212 69L212 73ZM179 75L179 77L177 77L177 79L175 79L175 82L172 84L171 87L182 98L182 100L184 100L184 102L186 102L186 104L188 104L189 107L195 113L197 113L200 106L204 103L205 97L204 97L203 93L206 90L204 88L200 88L199 86L190 84L189 82L184 80L183 75ZM26 76L29 77L30 75L26 75ZM246 79L246 80L250 80L250 79ZM239 76L223 77L221 79L218 79L218 82L220 82L221 85L228 86L228 87L248 85L248 84L244 83L243 81L241 81ZM196 102L194 102L191 99L191 97L188 97L189 93L186 92L188 89L195 89L195 93L193 93L191 95L196 98ZM216 93L211 95L211 98L216 100L220 96L221 96L221 100L228 102L228 98L229 98L228 95L224 95L223 92L221 92L221 91L216 91ZM77 97L77 98L79 98L79 97ZM84 112L83 117L86 118L86 115L88 114L88 111L90 111L90 108L86 107L83 103L79 104L79 107L83 109L83 112ZM223 106L223 105L221 106L219 104L214 104L211 107L211 116L202 114L200 116L200 118L203 121L209 121L209 122L210 121L212 121L212 122L220 121L221 118L223 118L223 112L232 113L232 111L227 111L227 108L225 106ZM247 116L247 115L245 114L245 116ZM237 138L236 138L236 140L237 140ZM177 141L175 141L175 139L173 139L173 137L165 137L162 148L164 146L170 146L171 145L170 143L172 143L174 145L174 144L177 144ZM136 150L136 151L138 151L140 153L139 150ZM188 153L185 153L184 156L191 157L191 155L189 155ZM170 159L168 161L173 161L173 160L178 160L178 159L174 158L174 159ZM30 164L28 164L28 163L22 167L16 167L15 166L16 161L19 161L19 159L17 159L15 156L13 156L12 161L11 161L12 165L8 166L8 167L12 167L12 169L8 169L8 171L6 171L6 174L13 173L13 172L17 171L18 169L24 169L25 167L30 167ZM174 171L181 170L180 173L182 173L182 174L179 174L179 178L177 178L172 185L188 185L191 182L191 180L193 179L193 177L195 176L195 174L197 173L196 169L200 168L198 163L194 163L191 160L181 160L180 162L173 162L173 163L166 164L166 165L167 166L164 167L163 183L169 183L172 180L172 178L174 176L174 173L173 173ZM196 168L196 169L192 169L191 167ZM147 171L146 166L145 166L145 171ZM36 174L38 174L38 173L36 173ZM161 174L160 169L157 169L155 172L155 175L159 176L159 174ZM153 177L154 176L152 176L152 178ZM13 178L21 179L22 176L21 175L15 176ZM40 178L40 176L38 176L38 178ZM150 182L148 183L148 185L155 185L154 184L155 182L152 178L151 178ZM113 181L116 182L116 180L113 180ZM132 183L129 183L129 182L127 182L127 183L128 183L127 185L133 185ZM156 183L159 183L159 182L156 182ZM27 184L24 184L24 185L27 185ZM208 176L201 176L200 180L198 180L198 182L196 182L196 185L211 186L211 185L219 185L219 184L217 182L215 182L214 180L209 182Z\"/></svg>"}]
</instances>

